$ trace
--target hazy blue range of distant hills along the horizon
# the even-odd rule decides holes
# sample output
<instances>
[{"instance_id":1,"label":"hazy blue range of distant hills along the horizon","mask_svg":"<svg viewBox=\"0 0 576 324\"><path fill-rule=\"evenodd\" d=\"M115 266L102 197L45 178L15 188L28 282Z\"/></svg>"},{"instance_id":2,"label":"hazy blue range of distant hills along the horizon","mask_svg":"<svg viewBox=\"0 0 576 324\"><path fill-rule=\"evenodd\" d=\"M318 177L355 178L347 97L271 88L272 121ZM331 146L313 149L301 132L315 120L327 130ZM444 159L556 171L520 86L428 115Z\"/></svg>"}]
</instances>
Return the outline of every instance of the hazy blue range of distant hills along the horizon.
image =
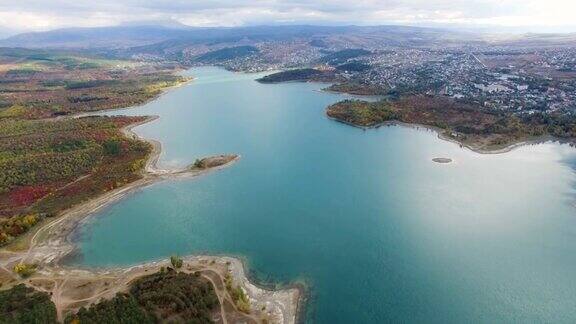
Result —
<instances>
[{"instance_id":1,"label":"hazy blue range of distant hills along the horizon","mask_svg":"<svg viewBox=\"0 0 576 324\"><path fill-rule=\"evenodd\" d=\"M411 26L250 26L198 28L177 23L65 28L15 35L0 47L127 50L124 54L165 55L189 46L253 46L262 42L306 40L318 48L370 49L387 46L447 47L504 44L512 46L575 45L576 34L482 34ZM335 62L337 63L337 62Z\"/></svg>"}]
</instances>

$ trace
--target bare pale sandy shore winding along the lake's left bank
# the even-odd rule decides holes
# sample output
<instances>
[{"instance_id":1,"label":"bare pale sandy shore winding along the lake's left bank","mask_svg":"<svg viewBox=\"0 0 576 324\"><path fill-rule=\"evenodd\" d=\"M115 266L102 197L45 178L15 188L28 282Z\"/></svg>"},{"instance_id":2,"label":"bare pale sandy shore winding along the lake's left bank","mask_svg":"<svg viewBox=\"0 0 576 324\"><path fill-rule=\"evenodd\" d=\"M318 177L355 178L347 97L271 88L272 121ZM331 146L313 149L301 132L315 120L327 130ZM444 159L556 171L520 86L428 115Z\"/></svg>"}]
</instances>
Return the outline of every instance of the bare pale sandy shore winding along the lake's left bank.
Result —
<instances>
[{"instance_id":1,"label":"bare pale sandy shore winding along the lake's left bank","mask_svg":"<svg viewBox=\"0 0 576 324\"><path fill-rule=\"evenodd\" d=\"M81 306L95 303L101 298L111 298L117 292L127 290L129 282L138 276L157 271L161 266L167 266L168 260L160 260L146 264L113 269L78 269L63 264L65 257L75 251L71 236L74 230L86 222L95 212L109 206L136 190L152 185L158 181L170 180L180 177L198 177L209 172L226 168L240 159L238 155L221 155L205 158L207 161L214 158L225 161L224 164L210 168L161 169L158 160L162 151L160 142L142 138L133 131L134 127L152 122L158 116L151 116L142 122L131 124L122 129L126 136L145 140L152 145L152 152L142 173L142 178L96 197L86 203L77 205L59 217L38 227L35 232L29 233L28 248L23 251L0 250L0 280L11 284L24 282L36 289L44 290L52 295L57 306L60 318L69 311L77 310ZM244 265L238 258L228 256L187 256L184 257L185 266L189 271L202 271L207 279L213 282L221 298L226 302L227 310L222 306L221 320L260 323L295 323L297 321L299 302L302 292L300 289L286 288L282 290L268 290L250 282L246 276ZM26 281L18 278L11 269L18 263L33 263L38 265L38 272ZM250 298L251 314L242 315L230 301L226 301L229 294L218 291L215 280L230 273L234 284L240 285ZM82 282L82 284L78 284ZM222 281L223 282L223 281ZM72 284L76 283L76 284ZM113 283L113 284L112 284ZM84 287L97 287L86 292ZM221 286L221 285L220 285ZM71 298L70 296L79 296ZM228 296L228 297L227 297ZM242 318L239 318L242 317Z\"/></svg>"}]
</instances>

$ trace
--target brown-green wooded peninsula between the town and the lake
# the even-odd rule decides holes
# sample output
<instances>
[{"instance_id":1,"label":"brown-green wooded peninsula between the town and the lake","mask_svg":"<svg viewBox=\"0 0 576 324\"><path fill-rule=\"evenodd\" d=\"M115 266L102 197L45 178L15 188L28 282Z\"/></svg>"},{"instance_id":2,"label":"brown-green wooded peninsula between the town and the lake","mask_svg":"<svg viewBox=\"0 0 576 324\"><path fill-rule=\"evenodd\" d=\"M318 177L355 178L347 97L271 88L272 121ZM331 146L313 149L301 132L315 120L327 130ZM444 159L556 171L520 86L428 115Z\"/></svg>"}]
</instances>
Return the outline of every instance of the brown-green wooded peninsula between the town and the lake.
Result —
<instances>
[{"instance_id":1,"label":"brown-green wooded peninsula between the town and the lake","mask_svg":"<svg viewBox=\"0 0 576 324\"><path fill-rule=\"evenodd\" d=\"M425 126L437 130L441 138L478 152L499 152L523 142L576 138L576 122L572 119L539 114L518 118L442 97L345 100L326 108L326 115L365 128L391 123Z\"/></svg>"}]
</instances>

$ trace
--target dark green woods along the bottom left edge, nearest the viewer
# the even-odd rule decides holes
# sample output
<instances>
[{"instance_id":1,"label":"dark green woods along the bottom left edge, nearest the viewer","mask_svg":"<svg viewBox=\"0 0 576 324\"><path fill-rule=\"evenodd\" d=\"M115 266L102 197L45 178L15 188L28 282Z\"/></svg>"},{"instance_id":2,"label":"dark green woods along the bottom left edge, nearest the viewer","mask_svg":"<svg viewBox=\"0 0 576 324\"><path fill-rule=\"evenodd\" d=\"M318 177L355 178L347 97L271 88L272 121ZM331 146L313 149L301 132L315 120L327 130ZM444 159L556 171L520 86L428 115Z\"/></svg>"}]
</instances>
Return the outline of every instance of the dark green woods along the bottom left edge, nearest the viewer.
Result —
<instances>
[{"instance_id":1,"label":"dark green woods along the bottom left edge, nearest the viewer","mask_svg":"<svg viewBox=\"0 0 576 324\"><path fill-rule=\"evenodd\" d=\"M199 274L171 268L136 279L129 291L68 314L65 323L212 323L219 301ZM0 323L57 323L50 295L16 285L0 291Z\"/></svg>"}]
</instances>

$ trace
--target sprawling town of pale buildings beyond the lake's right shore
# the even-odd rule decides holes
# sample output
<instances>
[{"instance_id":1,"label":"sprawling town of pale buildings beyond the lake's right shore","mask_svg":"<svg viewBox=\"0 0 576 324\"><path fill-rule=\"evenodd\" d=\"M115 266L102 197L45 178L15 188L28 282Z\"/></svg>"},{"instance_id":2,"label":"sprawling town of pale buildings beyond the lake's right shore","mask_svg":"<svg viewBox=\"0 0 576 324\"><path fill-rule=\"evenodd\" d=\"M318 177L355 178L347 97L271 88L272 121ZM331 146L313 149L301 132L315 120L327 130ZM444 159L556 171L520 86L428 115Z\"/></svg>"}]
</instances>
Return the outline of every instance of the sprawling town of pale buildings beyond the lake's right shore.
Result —
<instances>
[{"instance_id":1,"label":"sprawling town of pale buildings beyond the lake's right shore","mask_svg":"<svg viewBox=\"0 0 576 324\"><path fill-rule=\"evenodd\" d=\"M517 114L576 113L576 49L510 46L439 48L365 47L360 55L327 62L351 51L337 44L291 40L255 44L248 56L217 62L232 71L301 67L335 70L347 82L389 95L441 95ZM354 49L356 50L356 49Z\"/></svg>"}]
</instances>

